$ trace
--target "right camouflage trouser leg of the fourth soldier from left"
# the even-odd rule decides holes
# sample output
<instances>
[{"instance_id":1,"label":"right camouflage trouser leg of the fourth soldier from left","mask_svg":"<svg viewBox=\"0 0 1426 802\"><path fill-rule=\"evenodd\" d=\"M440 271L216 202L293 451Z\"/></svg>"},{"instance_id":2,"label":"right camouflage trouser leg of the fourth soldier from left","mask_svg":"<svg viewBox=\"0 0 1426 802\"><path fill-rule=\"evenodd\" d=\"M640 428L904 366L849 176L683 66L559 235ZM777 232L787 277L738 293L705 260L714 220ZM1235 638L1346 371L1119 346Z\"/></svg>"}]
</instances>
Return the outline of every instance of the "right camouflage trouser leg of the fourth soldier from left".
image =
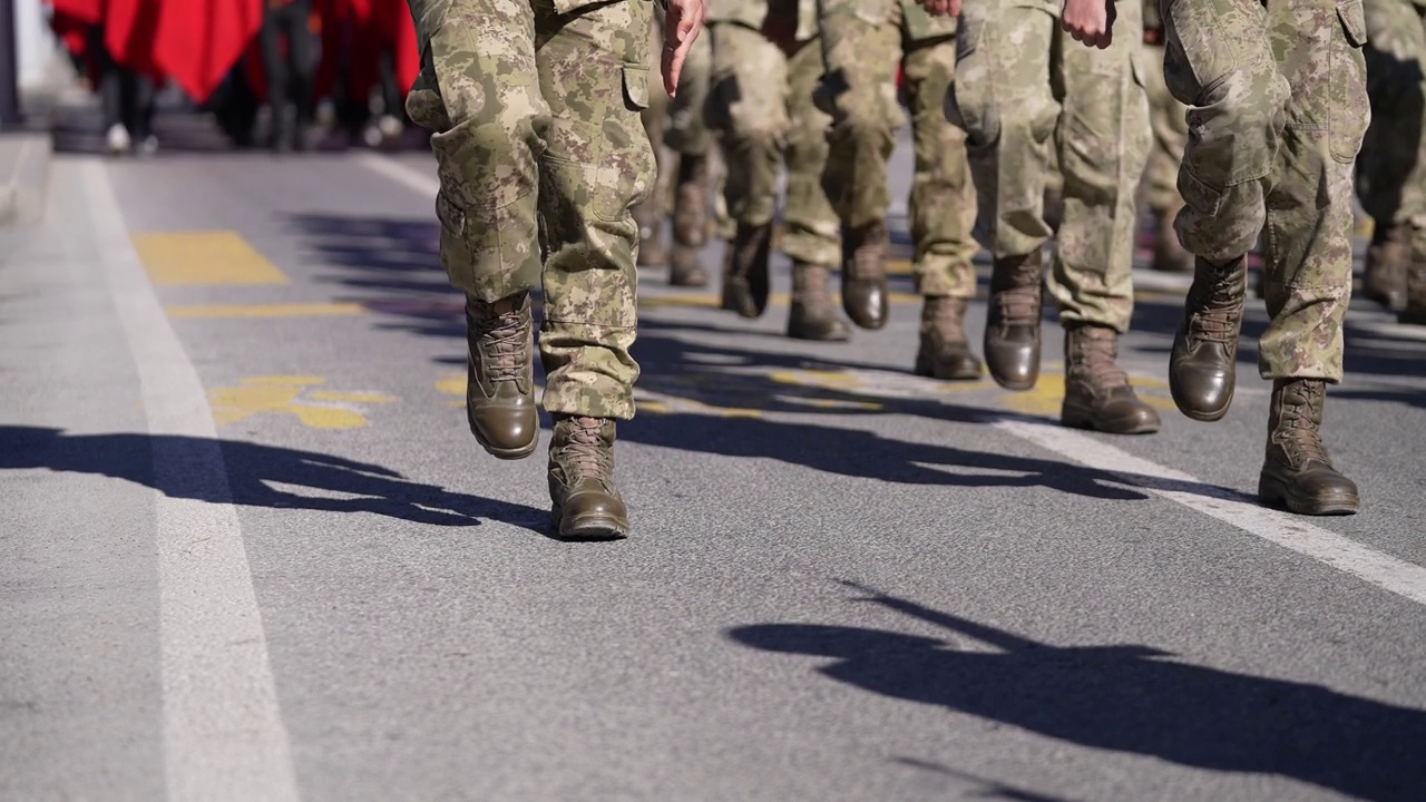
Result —
<instances>
[{"instance_id":1,"label":"right camouflage trouser leg of the fourth soldier from left","mask_svg":"<svg viewBox=\"0 0 1426 802\"><path fill-rule=\"evenodd\" d=\"M955 80L955 39L910 43L903 64L915 144L910 203L915 291L974 298L975 183L965 161L965 131L945 120L945 94Z\"/></svg>"}]
</instances>

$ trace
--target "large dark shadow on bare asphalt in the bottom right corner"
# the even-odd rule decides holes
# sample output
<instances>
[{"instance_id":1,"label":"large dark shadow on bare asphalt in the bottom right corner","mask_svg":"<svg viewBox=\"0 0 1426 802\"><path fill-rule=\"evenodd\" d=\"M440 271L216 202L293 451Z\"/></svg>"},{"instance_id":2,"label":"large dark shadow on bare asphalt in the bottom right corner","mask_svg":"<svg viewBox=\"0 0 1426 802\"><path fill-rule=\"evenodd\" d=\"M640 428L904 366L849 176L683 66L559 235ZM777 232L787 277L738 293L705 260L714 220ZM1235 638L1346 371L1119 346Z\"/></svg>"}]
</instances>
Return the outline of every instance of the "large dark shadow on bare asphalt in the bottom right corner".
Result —
<instances>
[{"instance_id":1,"label":"large dark shadow on bare asphalt in the bottom right corner","mask_svg":"<svg viewBox=\"0 0 1426 802\"><path fill-rule=\"evenodd\" d=\"M811 624L739 626L760 651L809 655L817 674L1091 749L1181 766L1271 773L1373 802L1420 799L1426 711L1320 685L1191 665L1147 645L1054 646L843 582L947 632Z\"/></svg>"}]
</instances>

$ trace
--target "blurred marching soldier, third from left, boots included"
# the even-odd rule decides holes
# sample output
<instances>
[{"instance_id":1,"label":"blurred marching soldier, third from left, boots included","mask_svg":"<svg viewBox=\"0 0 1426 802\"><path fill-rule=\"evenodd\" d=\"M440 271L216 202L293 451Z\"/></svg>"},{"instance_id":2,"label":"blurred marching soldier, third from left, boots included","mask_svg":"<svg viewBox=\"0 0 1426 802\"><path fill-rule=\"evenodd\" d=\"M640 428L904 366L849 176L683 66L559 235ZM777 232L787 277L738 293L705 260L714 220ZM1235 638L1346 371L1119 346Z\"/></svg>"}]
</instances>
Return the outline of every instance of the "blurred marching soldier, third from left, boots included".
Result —
<instances>
[{"instance_id":1,"label":"blurred marching soldier, third from left, boots included","mask_svg":"<svg viewBox=\"0 0 1426 802\"><path fill-rule=\"evenodd\" d=\"M843 341L827 274L837 263L837 215L821 187L827 117L811 101L823 74L813 0L720 0L709 13L713 88L709 124L719 131L724 198L736 221L723 265L723 308L767 310L777 176L787 167L781 250L793 261L787 335Z\"/></svg>"}]
</instances>

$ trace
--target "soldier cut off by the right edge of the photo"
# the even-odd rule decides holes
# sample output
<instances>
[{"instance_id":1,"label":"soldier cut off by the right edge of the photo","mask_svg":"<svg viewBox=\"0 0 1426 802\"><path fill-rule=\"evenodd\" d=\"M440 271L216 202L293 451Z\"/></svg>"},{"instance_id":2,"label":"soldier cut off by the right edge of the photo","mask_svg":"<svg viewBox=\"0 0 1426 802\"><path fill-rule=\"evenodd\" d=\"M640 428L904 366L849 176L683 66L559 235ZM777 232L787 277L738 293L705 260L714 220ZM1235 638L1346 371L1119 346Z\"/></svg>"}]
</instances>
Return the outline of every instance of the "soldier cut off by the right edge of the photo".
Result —
<instances>
[{"instance_id":1,"label":"soldier cut off by the right edge of the photo","mask_svg":"<svg viewBox=\"0 0 1426 802\"><path fill-rule=\"evenodd\" d=\"M1402 311L1403 323L1426 323L1426 275L1407 305L1407 273L1426 270L1426 0L1366 0L1365 9L1372 124L1358 196L1375 227L1362 293Z\"/></svg>"}]
</instances>

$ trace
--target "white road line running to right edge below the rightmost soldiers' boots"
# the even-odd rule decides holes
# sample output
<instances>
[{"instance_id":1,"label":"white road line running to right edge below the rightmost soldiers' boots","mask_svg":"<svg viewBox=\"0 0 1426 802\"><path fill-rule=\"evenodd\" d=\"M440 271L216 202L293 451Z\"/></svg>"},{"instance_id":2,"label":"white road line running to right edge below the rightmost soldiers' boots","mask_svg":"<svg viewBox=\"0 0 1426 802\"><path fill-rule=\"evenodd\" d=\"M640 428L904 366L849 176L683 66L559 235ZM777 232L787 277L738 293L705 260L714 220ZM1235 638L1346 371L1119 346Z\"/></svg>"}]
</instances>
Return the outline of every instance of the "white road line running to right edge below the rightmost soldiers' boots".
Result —
<instances>
[{"instance_id":1,"label":"white road line running to right edge below the rightmost soldiers' boots","mask_svg":"<svg viewBox=\"0 0 1426 802\"><path fill-rule=\"evenodd\" d=\"M1268 509L1228 494L1205 495L1209 492L1208 485L1195 477L1141 460L1072 430L1024 421L997 421L995 428L1081 465L1117 474L1148 492L1426 605L1426 568L1343 538L1299 515ZM1184 485L1199 487L1182 489Z\"/></svg>"}]
</instances>

